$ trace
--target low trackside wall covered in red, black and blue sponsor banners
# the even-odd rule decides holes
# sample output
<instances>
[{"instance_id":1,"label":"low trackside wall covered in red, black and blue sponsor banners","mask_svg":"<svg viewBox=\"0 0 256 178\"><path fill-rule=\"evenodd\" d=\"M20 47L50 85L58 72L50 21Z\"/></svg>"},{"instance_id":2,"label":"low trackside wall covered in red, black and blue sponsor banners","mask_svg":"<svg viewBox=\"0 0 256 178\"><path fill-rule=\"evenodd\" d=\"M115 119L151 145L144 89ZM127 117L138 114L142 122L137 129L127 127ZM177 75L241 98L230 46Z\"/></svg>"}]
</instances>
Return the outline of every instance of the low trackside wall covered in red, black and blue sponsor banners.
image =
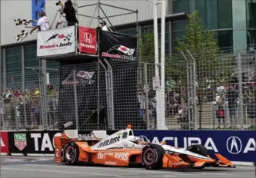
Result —
<instances>
[{"instance_id":1,"label":"low trackside wall covered in red, black and blue sponsor banners","mask_svg":"<svg viewBox=\"0 0 256 178\"><path fill-rule=\"evenodd\" d=\"M116 130L107 130L110 135ZM79 134L91 130L79 130ZM29 154L54 153L53 137L62 130L2 131L1 153ZM221 153L235 162L256 163L255 130L134 130L135 135L145 136L153 143L164 140L167 144L188 148L191 144L203 144L210 153Z\"/></svg>"}]
</instances>

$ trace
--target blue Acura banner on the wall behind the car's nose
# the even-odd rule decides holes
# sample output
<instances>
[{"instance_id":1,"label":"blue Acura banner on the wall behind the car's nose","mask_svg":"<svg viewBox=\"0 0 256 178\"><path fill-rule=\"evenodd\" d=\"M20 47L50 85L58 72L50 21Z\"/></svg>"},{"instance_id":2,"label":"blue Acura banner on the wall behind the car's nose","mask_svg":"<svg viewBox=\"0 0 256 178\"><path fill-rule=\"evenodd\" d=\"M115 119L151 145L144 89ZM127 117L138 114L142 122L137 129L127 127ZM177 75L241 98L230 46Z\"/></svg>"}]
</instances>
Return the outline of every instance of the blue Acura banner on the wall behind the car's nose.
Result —
<instances>
[{"instance_id":1,"label":"blue Acura banner on the wall behind the car's nose","mask_svg":"<svg viewBox=\"0 0 256 178\"><path fill-rule=\"evenodd\" d=\"M185 149L191 144L202 144L210 153L221 153L228 160L256 162L254 130L135 130L135 135Z\"/></svg>"}]
</instances>

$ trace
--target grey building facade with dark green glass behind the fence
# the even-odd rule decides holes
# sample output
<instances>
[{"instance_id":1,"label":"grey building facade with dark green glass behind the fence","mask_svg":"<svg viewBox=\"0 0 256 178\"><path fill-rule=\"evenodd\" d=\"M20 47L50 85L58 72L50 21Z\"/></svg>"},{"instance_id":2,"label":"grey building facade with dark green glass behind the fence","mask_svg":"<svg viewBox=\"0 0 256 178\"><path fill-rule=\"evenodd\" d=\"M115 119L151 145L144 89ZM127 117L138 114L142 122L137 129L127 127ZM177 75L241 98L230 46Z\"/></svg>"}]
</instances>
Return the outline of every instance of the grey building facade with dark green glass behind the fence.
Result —
<instances>
[{"instance_id":1,"label":"grey building facade with dark green glass behind the fence","mask_svg":"<svg viewBox=\"0 0 256 178\"><path fill-rule=\"evenodd\" d=\"M32 0L34 1L34 0ZM15 2L13 9L10 3ZM132 2L132 3L131 3ZM22 26L16 26L13 19L32 17L30 1L3 1L1 2L1 77L0 84L5 88L35 88L38 86L36 68L36 35L32 34L22 44L15 42L15 35L22 31ZM54 1L45 2L45 10L48 18L55 25L57 9ZM93 4L95 1L78 1L79 5ZM101 0L101 3L115 5L132 10L138 9L138 35L153 28L152 3L144 0ZM244 50L245 46L255 44L255 0L168 0L166 5L165 26L165 53L171 52L178 45L178 41L184 40L188 21L182 13L192 13L198 10L203 25L215 31L221 48L233 47L233 51ZM11 9L12 8L12 9ZM21 11L22 9L22 11ZM126 13L118 8L103 7L108 16ZM12 13L11 13L12 12ZM82 26L96 27L97 21L85 18L82 15L94 15L97 13L95 6L78 9L78 20ZM181 15L178 15L181 13ZM57 15L58 16L58 15ZM103 13L100 13L103 17ZM158 7L158 18L161 17L161 5ZM136 15L123 15L111 18L111 24L122 33L137 35ZM159 19L160 20L160 19ZM12 23L13 22L13 23ZM160 21L158 23L161 32ZM48 73L52 84L58 85L58 63L47 61Z\"/></svg>"}]
</instances>

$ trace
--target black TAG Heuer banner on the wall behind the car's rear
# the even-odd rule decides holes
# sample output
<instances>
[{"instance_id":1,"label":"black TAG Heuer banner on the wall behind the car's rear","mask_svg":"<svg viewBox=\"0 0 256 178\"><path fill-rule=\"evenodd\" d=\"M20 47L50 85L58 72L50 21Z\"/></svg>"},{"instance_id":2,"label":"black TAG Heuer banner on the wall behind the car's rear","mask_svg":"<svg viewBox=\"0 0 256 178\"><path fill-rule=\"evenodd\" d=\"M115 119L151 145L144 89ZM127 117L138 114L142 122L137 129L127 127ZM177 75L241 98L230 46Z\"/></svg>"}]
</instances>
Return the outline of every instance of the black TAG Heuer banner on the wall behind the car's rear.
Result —
<instances>
[{"instance_id":1,"label":"black TAG Heuer banner on the wall behind the car's rear","mask_svg":"<svg viewBox=\"0 0 256 178\"><path fill-rule=\"evenodd\" d=\"M62 130L8 132L9 153L54 153L53 137ZM78 134L88 134L91 130L79 130ZM107 134L115 133L108 130Z\"/></svg>"}]
</instances>

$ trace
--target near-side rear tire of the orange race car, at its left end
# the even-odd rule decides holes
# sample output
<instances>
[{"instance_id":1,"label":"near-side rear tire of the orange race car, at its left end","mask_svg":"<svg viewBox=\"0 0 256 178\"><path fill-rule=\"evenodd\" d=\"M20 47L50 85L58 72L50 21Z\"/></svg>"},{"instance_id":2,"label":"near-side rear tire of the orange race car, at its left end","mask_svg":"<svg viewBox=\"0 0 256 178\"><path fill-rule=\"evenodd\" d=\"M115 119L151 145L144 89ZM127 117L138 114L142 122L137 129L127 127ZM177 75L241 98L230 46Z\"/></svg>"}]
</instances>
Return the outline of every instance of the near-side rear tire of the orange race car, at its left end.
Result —
<instances>
[{"instance_id":1,"label":"near-side rear tire of the orange race car, at its left end","mask_svg":"<svg viewBox=\"0 0 256 178\"><path fill-rule=\"evenodd\" d=\"M62 160L67 165L78 163L79 148L75 142L68 142L62 150Z\"/></svg>"}]
</instances>

